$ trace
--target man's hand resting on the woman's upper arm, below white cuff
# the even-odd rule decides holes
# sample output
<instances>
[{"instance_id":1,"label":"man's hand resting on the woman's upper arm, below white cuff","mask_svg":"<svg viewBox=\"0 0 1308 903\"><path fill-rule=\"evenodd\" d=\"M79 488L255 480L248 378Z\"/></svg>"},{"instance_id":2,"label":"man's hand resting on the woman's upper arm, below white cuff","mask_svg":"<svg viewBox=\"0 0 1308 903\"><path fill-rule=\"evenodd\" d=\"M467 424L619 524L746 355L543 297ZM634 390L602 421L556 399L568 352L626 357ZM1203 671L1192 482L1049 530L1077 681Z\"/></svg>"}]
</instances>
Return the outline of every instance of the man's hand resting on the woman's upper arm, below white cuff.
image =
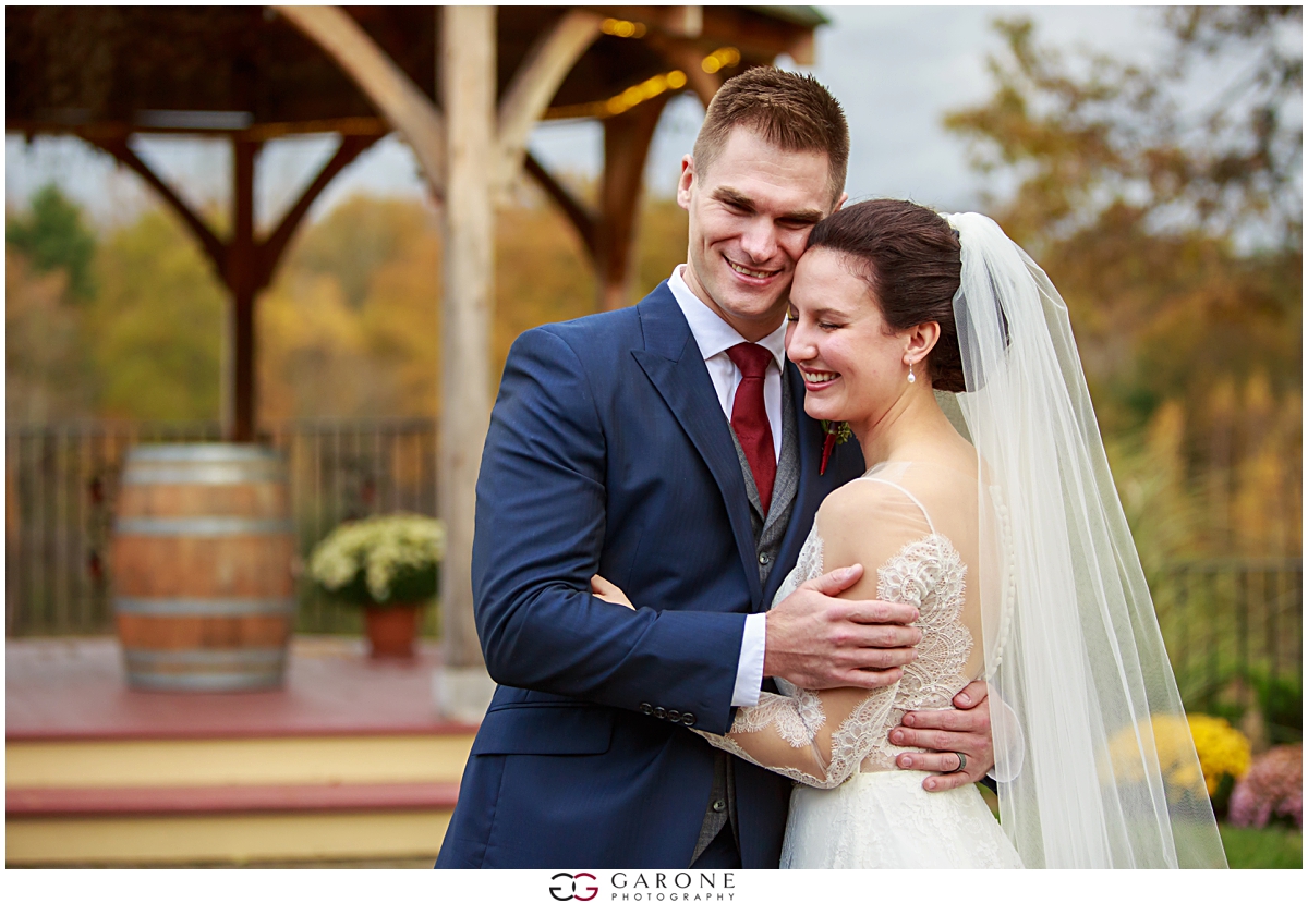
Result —
<instances>
[{"instance_id":1,"label":"man's hand resting on the woman's upper arm, below white cuff","mask_svg":"<svg viewBox=\"0 0 1308 903\"><path fill-rule=\"evenodd\" d=\"M863 566L808 580L768 612L763 673L806 690L893 683L917 657L922 631L912 605L835 599L858 583Z\"/></svg>"}]
</instances>

